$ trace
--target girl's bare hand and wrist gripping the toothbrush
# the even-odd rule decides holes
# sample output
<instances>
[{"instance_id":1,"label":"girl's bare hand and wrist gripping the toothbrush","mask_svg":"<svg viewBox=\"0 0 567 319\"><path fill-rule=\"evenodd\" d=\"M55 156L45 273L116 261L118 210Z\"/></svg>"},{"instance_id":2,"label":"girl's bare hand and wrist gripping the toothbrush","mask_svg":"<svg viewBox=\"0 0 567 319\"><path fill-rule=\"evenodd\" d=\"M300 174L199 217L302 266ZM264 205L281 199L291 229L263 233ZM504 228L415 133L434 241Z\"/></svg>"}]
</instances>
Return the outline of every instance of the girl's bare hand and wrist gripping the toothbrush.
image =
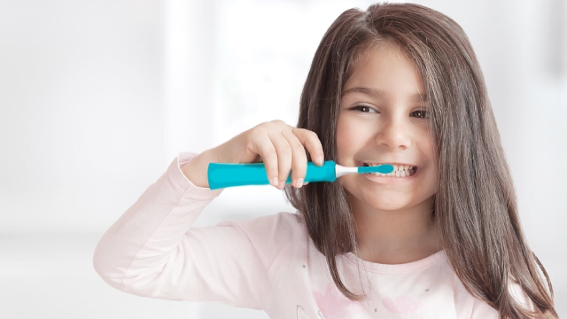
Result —
<instances>
[{"instance_id":1,"label":"girl's bare hand and wrist gripping the toothbrush","mask_svg":"<svg viewBox=\"0 0 567 319\"><path fill-rule=\"evenodd\" d=\"M268 121L202 152L183 165L182 171L195 185L209 187L206 178L209 163L256 163L262 159L272 185L283 190L291 170L291 185L300 188L307 172L304 146L314 164L322 166L322 144L313 131L294 128L279 120Z\"/></svg>"}]
</instances>

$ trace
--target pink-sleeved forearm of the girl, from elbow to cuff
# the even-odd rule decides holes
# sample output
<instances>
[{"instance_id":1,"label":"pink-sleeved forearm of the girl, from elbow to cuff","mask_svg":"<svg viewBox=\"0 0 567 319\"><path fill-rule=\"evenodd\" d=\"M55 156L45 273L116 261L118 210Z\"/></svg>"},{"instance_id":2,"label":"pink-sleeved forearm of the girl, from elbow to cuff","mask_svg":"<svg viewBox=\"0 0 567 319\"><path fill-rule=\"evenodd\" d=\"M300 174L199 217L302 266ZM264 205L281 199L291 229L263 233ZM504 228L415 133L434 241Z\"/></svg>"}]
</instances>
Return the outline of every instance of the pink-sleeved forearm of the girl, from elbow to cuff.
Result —
<instances>
[{"instance_id":1,"label":"pink-sleeved forearm of the girl, from elbow to cuff","mask_svg":"<svg viewBox=\"0 0 567 319\"><path fill-rule=\"evenodd\" d=\"M105 232L95 251L97 272L107 283L128 291L128 269L133 264L159 268L219 193L191 184L175 161Z\"/></svg>"}]
</instances>

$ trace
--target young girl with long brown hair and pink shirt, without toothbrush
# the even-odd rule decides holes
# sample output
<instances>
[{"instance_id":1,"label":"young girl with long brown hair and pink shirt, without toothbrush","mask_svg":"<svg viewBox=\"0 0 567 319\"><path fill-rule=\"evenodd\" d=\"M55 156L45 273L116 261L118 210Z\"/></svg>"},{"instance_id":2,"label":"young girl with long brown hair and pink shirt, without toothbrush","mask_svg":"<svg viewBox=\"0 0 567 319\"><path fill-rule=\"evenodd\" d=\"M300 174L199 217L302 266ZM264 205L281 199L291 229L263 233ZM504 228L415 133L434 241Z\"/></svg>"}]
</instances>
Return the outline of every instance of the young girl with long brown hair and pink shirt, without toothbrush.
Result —
<instances>
[{"instance_id":1,"label":"young girl with long brown hair and pink shirt, without toothbrush","mask_svg":"<svg viewBox=\"0 0 567 319\"><path fill-rule=\"evenodd\" d=\"M209 163L260 159L297 214L190 228L221 193L208 189ZM307 160L330 159L396 170L303 183ZM315 52L297 128L262 123L181 153L106 231L94 264L124 292L273 318L557 316L475 54L452 19L416 4L341 14Z\"/></svg>"}]
</instances>

